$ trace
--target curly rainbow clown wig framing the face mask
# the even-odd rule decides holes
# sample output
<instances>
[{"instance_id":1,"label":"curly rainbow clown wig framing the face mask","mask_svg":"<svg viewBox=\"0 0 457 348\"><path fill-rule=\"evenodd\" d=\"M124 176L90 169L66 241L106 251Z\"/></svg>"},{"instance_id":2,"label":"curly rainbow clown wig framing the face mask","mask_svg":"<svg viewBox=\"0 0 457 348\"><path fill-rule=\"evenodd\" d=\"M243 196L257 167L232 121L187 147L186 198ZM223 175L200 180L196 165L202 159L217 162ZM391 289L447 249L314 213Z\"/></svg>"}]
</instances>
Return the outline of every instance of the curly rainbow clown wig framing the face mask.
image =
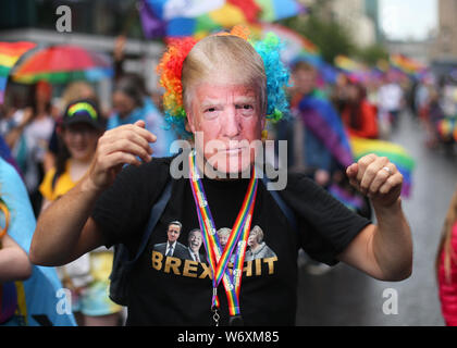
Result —
<instances>
[{"instance_id":1,"label":"curly rainbow clown wig framing the face mask","mask_svg":"<svg viewBox=\"0 0 457 348\"><path fill-rule=\"evenodd\" d=\"M235 39L231 40L235 41L235 44L230 48L225 47L224 40L231 38L218 38L221 36L235 37ZM239 38L244 39L244 41L239 42ZM206 45L205 41L209 40L218 40L218 42L213 42L211 49L203 54L194 53L196 50L190 53L197 44L198 47L201 47ZM242 45L236 45L236 41ZM248 42L249 46L246 46L244 42ZM203 76L207 70L213 71L219 63L222 62L224 64L224 62L228 62L230 59L226 58L228 55L233 58L233 61L236 60L236 62L232 62L232 65L234 65L238 75L242 75L238 76L239 78L246 79L246 75L250 75L251 83L262 85L259 87L261 87L260 90L262 92L264 91L265 95L260 96L262 103L261 110L263 110L267 120L271 122L280 121L288 110L285 87L289 79L289 73L281 61L281 47L282 44L274 34L269 33L263 40L255 41L249 39L247 28L239 26L234 27L231 33L220 33L201 40L193 37L171 39L168 50L157 67L160 76L160 85L165 89L163 107L165 110L165 120L169 125L173 126L185 138L193 136L192 133L185 129L187 117L185 105L188 105L186 103L186 98L188 98L186 88L189 88L188 85L190 84L190 78L187 76L190 73L187 72L194 71L195 76ZM196 64L193 63L193 59L186 60L189 53L190 57L196 55L194 61L198 61L199 65L203 64L203 69L201 66L195 66ZM230 73L232 74L232 71ZM236 75L236 73L233 75Z\"/></svg>"}]
</instances>

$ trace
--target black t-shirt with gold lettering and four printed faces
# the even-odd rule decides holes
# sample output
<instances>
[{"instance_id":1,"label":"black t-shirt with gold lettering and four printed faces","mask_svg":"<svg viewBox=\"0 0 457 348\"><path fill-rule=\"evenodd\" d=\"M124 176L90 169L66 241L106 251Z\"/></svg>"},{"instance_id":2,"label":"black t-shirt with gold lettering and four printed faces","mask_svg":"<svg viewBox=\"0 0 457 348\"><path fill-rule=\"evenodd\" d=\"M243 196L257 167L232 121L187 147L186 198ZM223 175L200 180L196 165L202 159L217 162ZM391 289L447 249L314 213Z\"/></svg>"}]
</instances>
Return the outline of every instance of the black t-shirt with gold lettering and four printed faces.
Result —
<instances>
[{"instance_id":1,"label":"black t-shirt with gold lettering and four printed faces","mask_svg":"<svg viewBox=\"0 0 457 348\"><path fill-rule=\"evenodd\" d=\"M123 243L132 254L170 176L171 158L153 159L139 167L127 166L99 198L92 219L107 247ZM246 251L240 288L240 311L246 325L294 325L296 315L297 253L335 264L354 237L370 222L330 196L304 175L289 174L280 191L294 211L298 231L259 183L251 231L260 227ZM232 228L248 187L248 179L202 178L218 233ZM168 226L182 224L173 254L168 256ZM172 196L128 282L127 325L211 325L211 271L203 244L199 259L189 251L189 232L199 228L188 179L172 179ZM258 232L259 228L257 228ZM260 237L259 237L260 235ZM222 282L218 288L221 324L228 311Z\"/></svg>"}]
</instances>

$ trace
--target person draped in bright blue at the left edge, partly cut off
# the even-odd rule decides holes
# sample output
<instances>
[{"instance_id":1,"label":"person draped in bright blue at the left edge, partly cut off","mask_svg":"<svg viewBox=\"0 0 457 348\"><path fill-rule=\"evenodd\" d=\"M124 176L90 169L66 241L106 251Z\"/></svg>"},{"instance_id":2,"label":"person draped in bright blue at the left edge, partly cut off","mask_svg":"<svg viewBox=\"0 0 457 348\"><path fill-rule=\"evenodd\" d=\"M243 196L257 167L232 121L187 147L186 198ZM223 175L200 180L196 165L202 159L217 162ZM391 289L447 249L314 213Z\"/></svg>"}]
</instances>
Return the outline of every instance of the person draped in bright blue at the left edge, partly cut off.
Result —
<instances>
[{"instance_id":1,"label":"person draped in bright blue at the left edge, partly cut off","mask_svg":"<svg viewBox=\"0 0 457 348\"><path fill-rule=\"evenodd\" d=\"M2 240L0 286L10 284L5 290L10 297L0 298L0 310L2 306L10 304L16 309L0 326L75 326L71 298L63 288L55 269L32 265L28 261L36 226L34 211L20 174L1 156L0 200L3 203L0 211L0 229L5 228L4 222L9 221L7 235ZM57 220L55 223L60 224L61 221ZM11 263L11 260L5 258L12 258L13 253L15 260ZM10 271L7 272L7 269ZM11 276L13 272L15 275ZM21 282L13 283L13 286L12 283L3 283L12 279Z\"/></svg>"}]
</instances>

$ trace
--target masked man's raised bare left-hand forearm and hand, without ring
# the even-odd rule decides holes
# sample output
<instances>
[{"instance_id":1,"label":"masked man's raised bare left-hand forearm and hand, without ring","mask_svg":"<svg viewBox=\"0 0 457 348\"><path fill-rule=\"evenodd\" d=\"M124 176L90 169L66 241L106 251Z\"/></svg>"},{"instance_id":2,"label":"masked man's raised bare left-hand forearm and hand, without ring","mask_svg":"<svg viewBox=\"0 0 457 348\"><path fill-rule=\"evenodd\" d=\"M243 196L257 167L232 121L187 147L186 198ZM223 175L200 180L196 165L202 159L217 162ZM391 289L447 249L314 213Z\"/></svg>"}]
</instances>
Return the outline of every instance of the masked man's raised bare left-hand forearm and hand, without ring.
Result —
<instances>
[{"instance_id":1,"label":"masked man's raised bare left-hand forearm and hand, without ring","mask_svg":"<svg viewBox=\"0 0 457 348\"><path fill-rule=\"evenodd\" d=\"M125 163L140 165L137 157L151 160L149 142L156 141L156 136L144 127L145 123L138 121L108 130L99 139L86 175L39 216L29 252L33 263L66 264L103 245L90 213Z\"/></svg>"}]
</instances>

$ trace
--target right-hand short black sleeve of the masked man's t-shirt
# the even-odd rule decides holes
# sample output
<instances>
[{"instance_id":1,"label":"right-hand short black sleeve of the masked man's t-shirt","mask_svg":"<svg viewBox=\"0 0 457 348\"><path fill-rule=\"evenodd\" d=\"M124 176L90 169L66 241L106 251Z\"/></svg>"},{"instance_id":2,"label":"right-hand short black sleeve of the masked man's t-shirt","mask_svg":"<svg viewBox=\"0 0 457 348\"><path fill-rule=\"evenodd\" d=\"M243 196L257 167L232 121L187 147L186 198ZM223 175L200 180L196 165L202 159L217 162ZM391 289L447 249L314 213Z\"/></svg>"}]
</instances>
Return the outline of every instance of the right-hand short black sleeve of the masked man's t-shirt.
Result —
<instances>
[{"instance_id":1,"label":"right-hand short black sleeve of the masked man's t-shirt","mask_svg":"<svg viewBox=\"0 0 457 348\"><path fill-rule=\"evenodd\" d=\"M289 175L282 197L296 214L300 247L330 265L338 262L336 256L371 223L305 175Z\"/></svg>"}]
</instances>

